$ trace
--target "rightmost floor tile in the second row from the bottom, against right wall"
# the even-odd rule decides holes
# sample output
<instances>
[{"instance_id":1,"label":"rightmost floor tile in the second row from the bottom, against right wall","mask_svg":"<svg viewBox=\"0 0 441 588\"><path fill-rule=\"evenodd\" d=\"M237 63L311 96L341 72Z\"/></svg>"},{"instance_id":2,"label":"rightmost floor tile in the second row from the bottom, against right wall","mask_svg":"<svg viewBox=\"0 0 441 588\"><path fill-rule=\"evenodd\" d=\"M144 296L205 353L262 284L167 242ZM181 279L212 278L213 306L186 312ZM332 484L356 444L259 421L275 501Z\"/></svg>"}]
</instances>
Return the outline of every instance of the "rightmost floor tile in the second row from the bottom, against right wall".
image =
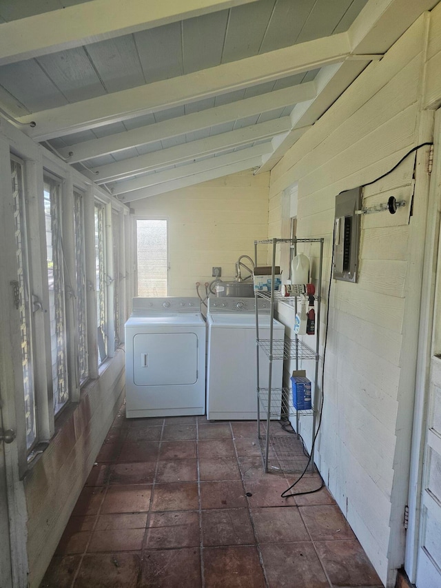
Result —
<instances>
[{"instance_id":1,"label":"rightmost floor tile in the second row from the bottom, against right wall","mask_svg":"<svg viewBox=\"0 0 441 588\"><path fill-rule=\"evenodd\" d=\"M355 539L337 505L298 507L312 540Z\"/></svg>"}]
</instances>

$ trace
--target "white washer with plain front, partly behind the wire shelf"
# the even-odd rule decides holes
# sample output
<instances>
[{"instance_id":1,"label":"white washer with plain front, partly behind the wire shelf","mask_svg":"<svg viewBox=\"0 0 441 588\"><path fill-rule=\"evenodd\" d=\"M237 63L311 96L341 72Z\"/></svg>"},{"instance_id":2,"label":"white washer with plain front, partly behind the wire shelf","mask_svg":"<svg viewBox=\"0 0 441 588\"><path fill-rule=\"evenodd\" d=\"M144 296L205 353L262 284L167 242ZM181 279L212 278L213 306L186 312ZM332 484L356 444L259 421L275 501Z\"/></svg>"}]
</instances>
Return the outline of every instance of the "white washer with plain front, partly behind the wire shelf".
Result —
<instances>
[{"instance_id":1,"label":"white washer with plain front, partly behind the wire shelf","mask_svg":"<svg viewBox=\"0 0 441 588\"><path fill-rule=\"evenodd\" d=\"M207 308L207 419L257 418L255 298L209 298ZM259 337L269 338L269 302L258 299ZM285 326L273 319L274 340ZM261 387L269 381L269 362L260 349ZM272 363L271 387L282 388L283 360ZM260 418L266 414L260 412Z\"/></svg>"}]
</instances>

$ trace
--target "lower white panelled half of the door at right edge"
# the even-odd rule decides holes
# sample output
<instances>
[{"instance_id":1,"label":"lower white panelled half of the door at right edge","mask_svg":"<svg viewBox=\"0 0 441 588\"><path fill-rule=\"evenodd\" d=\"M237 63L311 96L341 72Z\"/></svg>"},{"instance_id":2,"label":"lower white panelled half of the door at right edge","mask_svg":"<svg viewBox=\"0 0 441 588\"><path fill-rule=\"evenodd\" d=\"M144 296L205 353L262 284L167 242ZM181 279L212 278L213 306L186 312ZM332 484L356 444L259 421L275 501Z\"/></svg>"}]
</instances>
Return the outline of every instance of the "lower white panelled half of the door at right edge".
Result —
<instances>
[{"instance_id":1,"label":"lower white panelled half of the door at right edge","mask_svg":"<svg viewBox=\"0 0 441 588\"><path fill-rule=\"evenodd\" d=\"M416 585L441 588L441 357L432 356Z\"/></svg>"}]
</instances>

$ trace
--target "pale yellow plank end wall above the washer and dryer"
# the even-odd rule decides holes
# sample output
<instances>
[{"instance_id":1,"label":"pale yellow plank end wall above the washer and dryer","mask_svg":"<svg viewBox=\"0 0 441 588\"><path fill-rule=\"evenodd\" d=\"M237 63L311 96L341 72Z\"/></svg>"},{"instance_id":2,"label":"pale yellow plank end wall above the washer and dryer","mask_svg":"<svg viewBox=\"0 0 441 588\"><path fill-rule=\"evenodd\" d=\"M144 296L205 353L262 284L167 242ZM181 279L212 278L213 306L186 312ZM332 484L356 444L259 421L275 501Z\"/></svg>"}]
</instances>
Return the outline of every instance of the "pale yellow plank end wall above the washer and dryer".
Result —
<instances>
[{"instance_id":1,"label":"pale yellow plank end wall above the washer and dryer","mask_svg":"<svg viewBox=\"0 0 441 588\"><path fill-rule=\"evenodd\" d=\"M238 257L267 238L268 197L269 173L249 170L132 203L135 216L169 220L169 296L196 296L196 282L202 294L214 266L232 280Z\"/></svg>"}]
</instances>

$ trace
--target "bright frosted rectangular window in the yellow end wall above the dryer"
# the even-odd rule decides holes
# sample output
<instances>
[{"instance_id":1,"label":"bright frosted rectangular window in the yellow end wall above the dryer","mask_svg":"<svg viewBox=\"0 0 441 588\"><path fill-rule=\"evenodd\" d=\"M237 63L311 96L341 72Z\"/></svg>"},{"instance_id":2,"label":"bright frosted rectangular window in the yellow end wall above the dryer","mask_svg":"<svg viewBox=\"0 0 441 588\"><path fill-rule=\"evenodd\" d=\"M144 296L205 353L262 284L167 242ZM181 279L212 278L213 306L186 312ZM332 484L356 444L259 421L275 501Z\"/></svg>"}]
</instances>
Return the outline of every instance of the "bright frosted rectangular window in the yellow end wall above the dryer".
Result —
<instances>
[{"instance_id":1,"label":"bright frosted rectangular window in the yellow end wall above the dryer","mask_svg":"<svg viewBox=\"0 0 441 588\"><path fill-rule=\"evenodd\" d=\"M167 221L136 220L138 296L167 296Z\"/></svg>"}]
</instances>

